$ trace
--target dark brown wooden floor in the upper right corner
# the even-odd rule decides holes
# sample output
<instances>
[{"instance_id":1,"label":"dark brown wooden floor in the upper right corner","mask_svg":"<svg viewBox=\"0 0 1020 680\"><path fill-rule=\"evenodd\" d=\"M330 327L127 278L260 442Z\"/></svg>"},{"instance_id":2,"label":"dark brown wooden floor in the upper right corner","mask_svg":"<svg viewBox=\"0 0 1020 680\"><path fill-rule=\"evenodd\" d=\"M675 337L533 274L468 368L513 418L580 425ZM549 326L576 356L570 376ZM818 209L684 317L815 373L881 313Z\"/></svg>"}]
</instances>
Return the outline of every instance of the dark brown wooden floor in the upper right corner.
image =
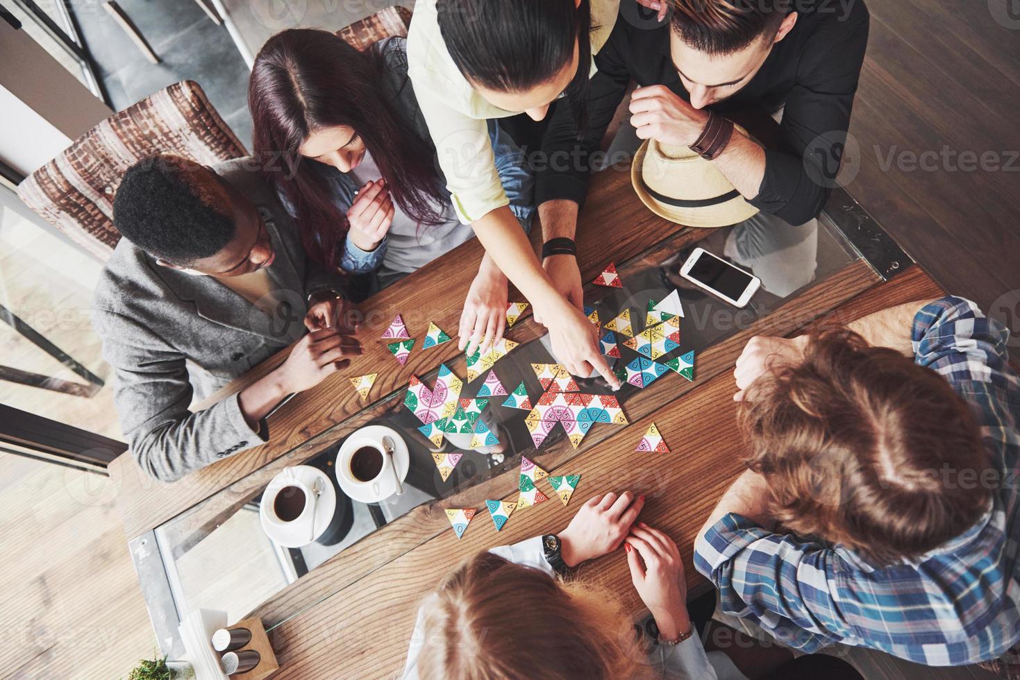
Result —
<instances>
[{"instance_id":1,"label":"dark brown wooden floor in the upper right corner","mask_svg":"<svg viewBox=\"0 0 1020 680\"><path fill-rule=\"evenodd\" d=\"M944 289L1020 335L1020 16L992 16L1009 3L869 0L847 190ZM962 152L1003 169L961 169Z\"/></svg>"}]
</instances>

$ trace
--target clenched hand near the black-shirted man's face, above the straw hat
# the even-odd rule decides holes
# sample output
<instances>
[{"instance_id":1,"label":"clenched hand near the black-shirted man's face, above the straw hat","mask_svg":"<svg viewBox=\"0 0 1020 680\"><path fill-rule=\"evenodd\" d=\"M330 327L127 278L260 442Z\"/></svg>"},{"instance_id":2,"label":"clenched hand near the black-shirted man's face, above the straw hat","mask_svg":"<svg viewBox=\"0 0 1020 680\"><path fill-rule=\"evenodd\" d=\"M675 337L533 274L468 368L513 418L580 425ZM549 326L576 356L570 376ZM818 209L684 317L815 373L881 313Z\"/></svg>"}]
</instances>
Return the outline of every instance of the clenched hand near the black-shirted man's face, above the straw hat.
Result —
<instances>
[{"instance_id":1,"label":"clenched hand near the black-shirted man's face, above the straw hat","mask_svg":"<svg viewBox=\"0 0 1020 680\"><path fill-rule=\"evenodd\" d=\"M696 109L664 85L638 88L630 95L630 124L642 140L688 147L698 141L708 113Z\"/></svg>"}]
</instances>

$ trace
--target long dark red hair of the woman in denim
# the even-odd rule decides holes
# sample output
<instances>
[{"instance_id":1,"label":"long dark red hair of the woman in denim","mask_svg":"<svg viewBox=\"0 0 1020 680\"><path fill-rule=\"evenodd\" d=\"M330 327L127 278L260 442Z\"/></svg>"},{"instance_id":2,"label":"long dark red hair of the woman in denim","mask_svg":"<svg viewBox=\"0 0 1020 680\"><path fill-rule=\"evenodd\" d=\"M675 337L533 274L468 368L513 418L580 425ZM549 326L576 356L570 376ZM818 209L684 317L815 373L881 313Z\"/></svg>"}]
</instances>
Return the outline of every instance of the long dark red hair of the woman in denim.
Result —
<instances>
[{"instance_id":1,"label":"long dark red hair of the woman in denim","mask_svg":"<svg viewBox=\"0 0 1020 680\"><path fill-rule=\"evenodd\" d=\"M419 224L440 224L446 197L427 142L399 121L380 82L388 48L362 53L327 31L291 29L262 46L248 85L255 156L294 206L308 255L336 265L349 227L324 172L299 149L311 133L346 125L364 140L393 200ZM279 160L283 169L278 168Z\"/></svg>"}]
</instances>

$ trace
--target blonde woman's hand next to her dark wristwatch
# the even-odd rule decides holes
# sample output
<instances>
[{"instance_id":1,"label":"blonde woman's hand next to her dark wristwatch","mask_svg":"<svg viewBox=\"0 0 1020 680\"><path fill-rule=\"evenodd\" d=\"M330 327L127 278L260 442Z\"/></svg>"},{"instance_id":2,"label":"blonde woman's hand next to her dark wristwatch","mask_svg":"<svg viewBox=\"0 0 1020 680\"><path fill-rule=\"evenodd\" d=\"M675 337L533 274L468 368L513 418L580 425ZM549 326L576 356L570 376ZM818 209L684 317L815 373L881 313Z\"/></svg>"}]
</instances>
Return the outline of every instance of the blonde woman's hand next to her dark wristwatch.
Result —
<instances>
[{"instance_id":1,"label":"blonde woman's hand next to her dark wristwatch","mask_svg":"<svg viewBox=\"0 0 1020 680\"><path fill-rule=\"evenodd\" d=\"M585 560L615 551L644 507L645 496L635 499L630 491L619 496L609 492L589 499L559 534L564 564L576 567Z\"/></svg>"}]
</instances>

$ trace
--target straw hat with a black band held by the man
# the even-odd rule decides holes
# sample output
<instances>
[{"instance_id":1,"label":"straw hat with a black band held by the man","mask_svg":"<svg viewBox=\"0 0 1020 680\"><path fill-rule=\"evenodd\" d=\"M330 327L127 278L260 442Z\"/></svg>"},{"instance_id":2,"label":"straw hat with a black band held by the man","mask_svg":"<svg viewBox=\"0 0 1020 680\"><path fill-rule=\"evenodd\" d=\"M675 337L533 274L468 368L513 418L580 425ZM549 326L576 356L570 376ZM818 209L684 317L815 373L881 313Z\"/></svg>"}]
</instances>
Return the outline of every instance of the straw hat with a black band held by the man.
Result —
<instances>
[{"instance_id":1,"label":"straw hat with a black band held by the man","mask_svg":"<svg viewBox=\"0 0 1020 680\"><path fill-rule=\"evenodd\" d=\"M748 135L740 125L733 134ZM677 224L727 226L758 212L711 161L688 147L646 140L630 166L630 180L652 212Z\"/></svg>"}]
</instances>

